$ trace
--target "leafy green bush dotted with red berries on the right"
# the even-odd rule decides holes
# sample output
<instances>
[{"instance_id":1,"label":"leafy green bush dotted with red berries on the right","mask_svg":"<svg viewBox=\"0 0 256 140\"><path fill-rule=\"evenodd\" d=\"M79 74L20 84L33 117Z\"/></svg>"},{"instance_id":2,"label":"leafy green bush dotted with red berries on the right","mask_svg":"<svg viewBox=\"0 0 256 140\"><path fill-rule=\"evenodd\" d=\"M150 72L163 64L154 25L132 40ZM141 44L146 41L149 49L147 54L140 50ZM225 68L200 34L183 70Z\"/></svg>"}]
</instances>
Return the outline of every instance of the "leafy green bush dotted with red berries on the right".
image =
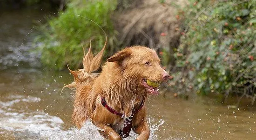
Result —
<instances>
[{"instance_id":1,"label":"leafy green bush dotted with red berries on the right","mask_svg":"<svg viewBox=\"0 0 256 140\"><path fill-rule=\"evenodd\" d=\"M175 82L199 94L255 87L256 1L189 0L184 13Z\"/></svg>"}]
</instances>

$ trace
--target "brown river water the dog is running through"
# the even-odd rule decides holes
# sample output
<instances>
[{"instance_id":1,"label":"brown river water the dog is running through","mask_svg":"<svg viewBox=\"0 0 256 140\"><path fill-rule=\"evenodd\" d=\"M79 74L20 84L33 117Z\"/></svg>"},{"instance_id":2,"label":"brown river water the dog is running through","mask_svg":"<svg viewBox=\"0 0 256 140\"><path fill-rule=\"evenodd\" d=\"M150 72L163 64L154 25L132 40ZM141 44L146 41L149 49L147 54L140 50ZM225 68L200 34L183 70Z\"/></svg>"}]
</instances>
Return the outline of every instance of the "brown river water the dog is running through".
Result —
<instances>
[{"instance_id":1,"label":"brown river water the dog is running through","mask_svg":"<svg viewBox=\"0 0 256 140\"><path fill-rule=\"evenodd\" d=\"M71 122L73 95L64 84L67 70L40 65L31 51L38 34L34 25L50 11L0 13L0 140L101 140L87 122L81 130ZM192 94L192 93L191 93ZM208 97L189 100L168 93L146 102L150 140L255 140L256 109L229 108ZM126 140L135 140L135 133Z\"/></svg>"}]
</instances>

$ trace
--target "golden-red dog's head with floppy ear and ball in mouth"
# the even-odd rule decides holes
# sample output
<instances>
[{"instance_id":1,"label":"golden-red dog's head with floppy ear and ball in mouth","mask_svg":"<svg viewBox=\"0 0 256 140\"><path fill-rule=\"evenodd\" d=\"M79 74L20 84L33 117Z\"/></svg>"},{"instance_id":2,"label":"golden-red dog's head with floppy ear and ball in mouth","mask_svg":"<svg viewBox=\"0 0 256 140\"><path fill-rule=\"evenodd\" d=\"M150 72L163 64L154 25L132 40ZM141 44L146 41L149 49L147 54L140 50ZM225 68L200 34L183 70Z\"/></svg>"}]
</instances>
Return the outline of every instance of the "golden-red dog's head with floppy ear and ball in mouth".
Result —
<instances>
[{"instance_id":1,"label":"golden-red dog's head with floppy ear and ball in mouth","mask_svg":"<svg viewBox=\"0 0 256 140\"><path fill-rule=\"evenodd\" d=\"M156 52L148 47L128 47L115 53L108 59L115 62L123 76L133 77L140 87L149 94L158 94L158 86L169 78L169 74L160 66Z\"/></svg>"}]
</instances>

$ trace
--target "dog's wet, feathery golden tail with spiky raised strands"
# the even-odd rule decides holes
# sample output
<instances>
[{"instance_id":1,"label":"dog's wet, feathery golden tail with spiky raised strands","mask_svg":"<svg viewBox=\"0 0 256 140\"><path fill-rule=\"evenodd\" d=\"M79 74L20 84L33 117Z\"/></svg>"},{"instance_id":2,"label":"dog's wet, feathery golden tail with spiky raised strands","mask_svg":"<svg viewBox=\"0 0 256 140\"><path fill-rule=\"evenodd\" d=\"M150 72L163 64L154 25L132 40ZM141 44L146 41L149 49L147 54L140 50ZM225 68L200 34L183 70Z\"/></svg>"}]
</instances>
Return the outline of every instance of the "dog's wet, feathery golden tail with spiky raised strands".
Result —
<instances>
[{"instance_id":1,"label":"dog's wet, feathery golden tail with spiky raised strands","mask_svg":"<svg viewBox=\"0 0 256 140\"><path fill-rule=\"evenodd\" d=\"M89 83L92 83L92 81L95 80L95 78L99 75L99 73L93 73L93 72L95 72L96 70L98 70L101 67L101 60L102 60L102 57L104 54L105 47L107 45L106 33L105 33L105 39L106 40L105 40L105 44L104 44L103 48L95 56L93 56L93 53L92 53L92 42L91 41L90 41L90 47L89 47L87 54L85 54L85 50L83 47L84 57L83 57L83 61L82 61L82 63L83 63L82 69L73 71L73 70L69 69L69 67L67 66L70 73L72 73L72 75L74 76L74 82L64 86L61 90L61 93L62 93L63 89L66 87L75 91L75 89L77 88L78 85L89 85Z\"/></svg>"}]
</instances>

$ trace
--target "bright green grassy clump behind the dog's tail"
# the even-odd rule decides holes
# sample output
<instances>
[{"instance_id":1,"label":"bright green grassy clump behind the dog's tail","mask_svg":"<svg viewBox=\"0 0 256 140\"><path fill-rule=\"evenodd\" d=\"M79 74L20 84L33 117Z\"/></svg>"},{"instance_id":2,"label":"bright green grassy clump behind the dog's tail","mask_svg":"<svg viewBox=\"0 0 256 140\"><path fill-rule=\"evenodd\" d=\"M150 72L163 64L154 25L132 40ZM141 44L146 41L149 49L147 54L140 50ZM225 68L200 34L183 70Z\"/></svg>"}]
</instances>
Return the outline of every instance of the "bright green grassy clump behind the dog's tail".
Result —
<instances>
[{"instance_id":1,"label":"bright green grassy clump behind the dog's tail","mask_svg":"<svg viewBox=\"0 0 256 140\"><path fill-rule=\"evenodd\" d=\"M83 57L82 46L88 47L92 40L92 48L101 50L105 35L98 23L108 35L108 53L115 46L115 30L110 20L110 14L115 9L115 0L73 0L67 5L65 12L60 13L40 27L42 35L39 41L41 61L44 65L61 70L66 64L72 69L81 67ZM88 20L90 19L90 20Z\"/></svg>"}]
</instances>

